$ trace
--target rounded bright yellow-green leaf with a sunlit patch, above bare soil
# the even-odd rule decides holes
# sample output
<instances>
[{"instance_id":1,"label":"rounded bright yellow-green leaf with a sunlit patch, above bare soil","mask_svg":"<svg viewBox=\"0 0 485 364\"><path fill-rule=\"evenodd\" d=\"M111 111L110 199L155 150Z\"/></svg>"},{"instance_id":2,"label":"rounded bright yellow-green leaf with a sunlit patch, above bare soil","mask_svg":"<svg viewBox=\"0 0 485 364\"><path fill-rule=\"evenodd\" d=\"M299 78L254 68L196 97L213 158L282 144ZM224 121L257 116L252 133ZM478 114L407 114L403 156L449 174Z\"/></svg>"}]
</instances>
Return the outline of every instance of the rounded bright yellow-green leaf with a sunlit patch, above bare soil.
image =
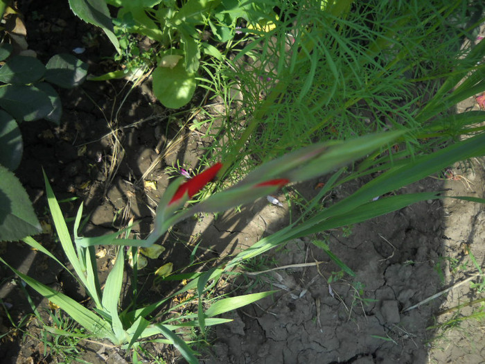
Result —
<instances>
[{"instance_id":1,"label":"rounded bright yellow-green leaf with a sunlit patch, above bare soil","mask_svg":"<svg viewBox=\"0 0 485 364\"><path fill-rule=\"evenodd\" d=\"M191 101L195 92L195 73L188 72L182 62L172 69L157 67L152 78L153 93L164 106L178 109Z\"/></svg>"}]
</instances>

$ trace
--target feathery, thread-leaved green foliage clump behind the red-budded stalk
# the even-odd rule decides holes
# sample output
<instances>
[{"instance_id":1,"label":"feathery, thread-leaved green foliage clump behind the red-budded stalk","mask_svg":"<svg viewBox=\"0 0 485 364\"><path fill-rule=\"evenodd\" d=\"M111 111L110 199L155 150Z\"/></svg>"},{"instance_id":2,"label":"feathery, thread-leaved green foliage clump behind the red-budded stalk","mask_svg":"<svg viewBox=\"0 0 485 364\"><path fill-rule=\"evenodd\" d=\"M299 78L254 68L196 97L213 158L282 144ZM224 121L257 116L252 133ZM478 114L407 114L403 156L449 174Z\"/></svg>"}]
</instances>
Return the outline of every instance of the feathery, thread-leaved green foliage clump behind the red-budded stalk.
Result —
<instances>
[{"instance_id":1,"label":"feathery, thread-leaved green foliage clump behind the red-budded stalk","mask_svg":"<svg viewBox=\"0 0 485 364\"><path fill-rule=\"evenodd\" d=\"M473 38L479 7L468 1L276 3L276 28L242 44L232 61L204 66L207 87L224 103L222 125L208 121L208 135L218 140L208 155L238 171L227 177L315 141L405 129L389 146L389 153L405 157L463 132L456 119L435 118L452 112L455 99L432 98L445 78L476 69L482 58L473 42L460 47ZM425 112L436 103L438 112Z\"/></svg>"}]
</instances>

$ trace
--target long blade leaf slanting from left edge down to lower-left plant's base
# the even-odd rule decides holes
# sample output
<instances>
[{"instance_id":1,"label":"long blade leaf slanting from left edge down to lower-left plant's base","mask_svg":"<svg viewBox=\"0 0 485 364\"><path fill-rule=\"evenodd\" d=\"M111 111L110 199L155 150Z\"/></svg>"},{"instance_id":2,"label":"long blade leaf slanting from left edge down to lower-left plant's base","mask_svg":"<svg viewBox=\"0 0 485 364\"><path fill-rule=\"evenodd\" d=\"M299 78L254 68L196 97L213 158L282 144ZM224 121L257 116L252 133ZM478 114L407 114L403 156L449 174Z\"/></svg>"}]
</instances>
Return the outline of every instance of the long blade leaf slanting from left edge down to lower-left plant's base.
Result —
<instances>
[{"instance_id":1,"label":"long blade leaf slanting from left edge down to lower-left plant's base","mask_svg":"<svg viewBox=\"0 0 485 364\"><path fill-rule=\"evenodd\" d=\"M95 313L89 311L89 309L87 309L85 306L82 306L71 297L55 291L52 288L40 283L39 281L28 277L28 275L24 275L23 273L8 265L8 263L6 263L6 261L4 261L3 259L0 258L0 261L8 266L8 268L10 268L13 272L15 272L15 274L18 275L21 279L23 279L26 284L28 284L31 288L35 289L37 293L46 297L46 299L51 301L53 304L57 304L58 306L60 306L60 308L66 311L66 313L71 316L73 320L78 322L78 324L87 329L89 332L93 333L94 336L98 338L109 338L109 340L113 339L109 324L107 324L105 320L100 318Z\"/></svg>"}]
</instances>

